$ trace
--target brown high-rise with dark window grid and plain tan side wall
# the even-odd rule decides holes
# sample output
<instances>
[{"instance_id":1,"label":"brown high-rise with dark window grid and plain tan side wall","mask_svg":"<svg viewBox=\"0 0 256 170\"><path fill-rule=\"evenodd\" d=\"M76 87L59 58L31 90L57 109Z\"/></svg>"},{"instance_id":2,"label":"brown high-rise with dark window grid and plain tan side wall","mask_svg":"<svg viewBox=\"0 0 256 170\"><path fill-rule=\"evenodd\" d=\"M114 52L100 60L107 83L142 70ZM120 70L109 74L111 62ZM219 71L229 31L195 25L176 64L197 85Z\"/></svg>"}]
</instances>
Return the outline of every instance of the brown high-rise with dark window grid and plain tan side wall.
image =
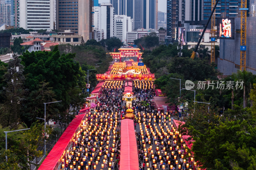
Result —
<instances>
[{"instance_id":1,"label":"brown high-rise with dark window grid and plain tan side wall","mask_svg":"<svg viewBox=\"0 0 256 170\"><path fill-rule=\"evenodd\" d=\"M57 0L56 6L59 31L71 30L82 35L84 41L93 38L91 0Z\"/></svg>"}]
</instances>

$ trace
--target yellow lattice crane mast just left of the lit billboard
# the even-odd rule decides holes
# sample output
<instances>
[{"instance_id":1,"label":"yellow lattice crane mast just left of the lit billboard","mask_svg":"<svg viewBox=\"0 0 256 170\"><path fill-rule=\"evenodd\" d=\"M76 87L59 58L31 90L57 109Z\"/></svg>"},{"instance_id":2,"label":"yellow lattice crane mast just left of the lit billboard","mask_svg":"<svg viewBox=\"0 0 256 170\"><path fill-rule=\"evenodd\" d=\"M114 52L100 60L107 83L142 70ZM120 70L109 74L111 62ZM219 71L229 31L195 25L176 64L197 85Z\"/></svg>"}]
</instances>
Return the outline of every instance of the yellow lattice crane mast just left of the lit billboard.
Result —
<instances>
[{"instance_id":1,"label":"yellow lattice crane mast just left of the lit billboard","mask_svg":"<svg viewBox=\"0 0 256 170\"><path fill-rule=\"evenodd\" d=\"M212 10L215 6L215 0L212 0ZM212 30L211 30L211 63L215 63L215 32L217 30L215 29L215 10L212 14Z\"/></svg>"}]
</instances>

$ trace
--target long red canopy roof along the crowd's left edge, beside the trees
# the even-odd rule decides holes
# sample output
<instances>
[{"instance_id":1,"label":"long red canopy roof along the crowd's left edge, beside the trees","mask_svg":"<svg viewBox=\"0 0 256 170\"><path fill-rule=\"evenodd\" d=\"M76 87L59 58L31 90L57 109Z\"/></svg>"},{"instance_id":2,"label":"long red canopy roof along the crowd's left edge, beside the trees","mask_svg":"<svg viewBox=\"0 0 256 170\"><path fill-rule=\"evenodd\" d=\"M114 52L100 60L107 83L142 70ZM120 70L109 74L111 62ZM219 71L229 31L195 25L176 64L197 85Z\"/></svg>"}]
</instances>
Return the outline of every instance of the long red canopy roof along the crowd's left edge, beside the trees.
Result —
<instances>
[{"instance_id":1,"label":"long red canopy roof along the crowd's left edge, beside the trees","mask_svg":"<svg viewBox=\"0 0 256 170\"><path fill-rule=\"evenodd\" d=\"M84 119L85 114L76 115L76 117L70 122L67 129L61 135L58 142L53 146L51 152L44 159L38 170L57 170L60 165L60 157L64 151L72 144L72 137L78 131L79 126Z\"/></svg>"}]
</instances>

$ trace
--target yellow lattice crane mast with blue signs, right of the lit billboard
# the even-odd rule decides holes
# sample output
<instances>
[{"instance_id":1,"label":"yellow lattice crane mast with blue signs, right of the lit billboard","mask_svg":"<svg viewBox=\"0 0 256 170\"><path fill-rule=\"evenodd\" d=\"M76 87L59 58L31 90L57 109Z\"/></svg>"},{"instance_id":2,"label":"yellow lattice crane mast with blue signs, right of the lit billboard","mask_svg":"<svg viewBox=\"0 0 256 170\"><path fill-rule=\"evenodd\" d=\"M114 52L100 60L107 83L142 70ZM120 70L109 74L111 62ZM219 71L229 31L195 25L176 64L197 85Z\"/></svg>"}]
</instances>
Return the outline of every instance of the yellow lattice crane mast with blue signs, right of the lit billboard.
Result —
<instances>
[{"instance_id":1,"label":"yellow lattice crane mast with blue signs, right of the lit billboard","mask_svg":"<svg viewBox=\"0 0 256 170\"><path fill-rule=\"evenodd\" d=\"M247 0L241 0L241 8L246 9ZM241 11L241 44L240 44L240 70L246 68L246 10Z\"/></svg>"}]
</instances>

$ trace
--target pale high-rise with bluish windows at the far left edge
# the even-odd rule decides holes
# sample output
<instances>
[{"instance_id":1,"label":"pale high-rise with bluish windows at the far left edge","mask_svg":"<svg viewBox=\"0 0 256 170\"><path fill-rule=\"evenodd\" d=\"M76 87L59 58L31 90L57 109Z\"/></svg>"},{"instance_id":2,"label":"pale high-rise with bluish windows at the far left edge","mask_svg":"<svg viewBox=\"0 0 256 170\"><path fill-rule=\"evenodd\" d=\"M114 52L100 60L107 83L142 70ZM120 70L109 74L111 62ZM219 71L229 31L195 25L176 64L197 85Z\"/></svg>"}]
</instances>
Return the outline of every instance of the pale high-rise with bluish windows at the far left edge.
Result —
<instances>
[{"instance_id":1,"label":"pale high-rise with bluish windows at the far left edge","mask_svg":"<svg viewBox=\"0 0 256 170\"><path fill-rule=\"evenodd\" d=\"M11 25L11 4L5 0L0 1L0 23Z\"/></svg>"}]
</instances>

